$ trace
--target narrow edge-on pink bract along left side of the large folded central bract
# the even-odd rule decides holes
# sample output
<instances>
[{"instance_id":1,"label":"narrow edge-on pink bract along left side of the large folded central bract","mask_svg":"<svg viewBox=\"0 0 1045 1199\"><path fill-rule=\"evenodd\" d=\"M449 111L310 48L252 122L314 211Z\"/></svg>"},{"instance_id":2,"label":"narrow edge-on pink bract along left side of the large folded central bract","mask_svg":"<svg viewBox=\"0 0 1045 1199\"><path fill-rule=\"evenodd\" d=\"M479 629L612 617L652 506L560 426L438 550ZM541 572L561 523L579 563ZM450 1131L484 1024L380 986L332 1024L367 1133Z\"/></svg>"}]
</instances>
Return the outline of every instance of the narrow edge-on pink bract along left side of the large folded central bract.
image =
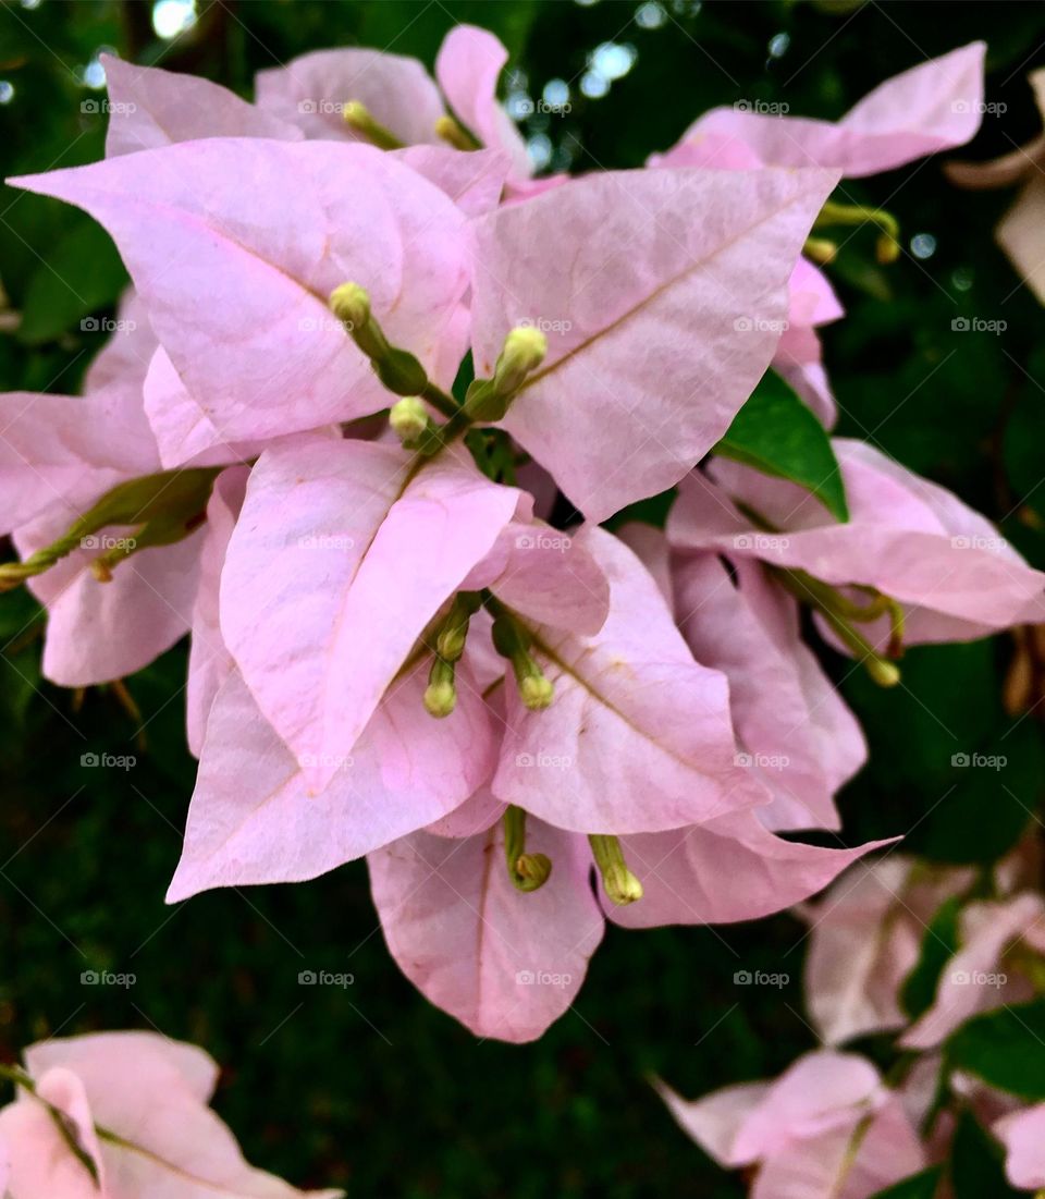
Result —
<instances>
[{"instance_id":1,"label":"narrow edge-on pink bract along left side of the large folded central bract","mask_svg":"<svg viewBox=\"0 0 1045 1199\"><path fill-rule=\"evenodd\" d=\"M218 583L225 565L225 550L243 504L250 471L230 466L215 481L207 504L207 520L200 546L199 584L192 613L192 641L188 652L185 709L189 751L199 758L204 731L215 695L235 669L232 656L222 639L218 620Z\"/></svg>"}]
</instances>

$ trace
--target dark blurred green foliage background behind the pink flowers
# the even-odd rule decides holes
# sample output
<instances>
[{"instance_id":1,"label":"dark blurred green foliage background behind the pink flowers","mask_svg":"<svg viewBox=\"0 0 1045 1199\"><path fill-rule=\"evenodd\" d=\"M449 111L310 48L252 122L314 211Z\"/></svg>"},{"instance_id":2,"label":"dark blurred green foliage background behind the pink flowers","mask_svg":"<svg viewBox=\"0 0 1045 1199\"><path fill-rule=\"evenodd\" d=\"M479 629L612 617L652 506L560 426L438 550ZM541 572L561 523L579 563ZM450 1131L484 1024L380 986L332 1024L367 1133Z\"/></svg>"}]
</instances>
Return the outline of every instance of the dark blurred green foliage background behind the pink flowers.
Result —
<instances>
[{"instance_id":1,"label":"dark blurred green foliage background behind the pink flowers","mask_svg":"<svg viewBox=\"0 0 1045 1199\"><path fill-rule=\"evenodd\" d=\"M102 156L101 49L249 96L255 70L320 47L389 48L430 66L454 22L506 42L517 109L568 95L568 113L522 122L549 169L639 167L706 108L739 98L835 118L974 38L989 43L987 100L1005 112L985 118L968 156L1038 131L1026 73L1045 62L1039 4L23 0L0 7L2 174ZM848 309L824 330L840 432L954 488L1045 566L1043 313L991 237L1010 195L956 192L935 161L846 188L899 217L907 253L878 267L862 233L830 269ZM80 323L111 314L125 283L111 243L81 213L5 187L0 281L0 386L75 391L104 341ZM959 333L960 317L1007 327ZM194 773L183 647L129 681L143 749L110 689L78 707L41 683L41 632L25 595L0 598L0 1059L91 1029L199 1042L226 1067L217 1107L247 1156L352 1195L744 1193L676 1129L648 1077L695 1096L774 1073L814 1043L796 920L610 930L575 1011L539 1043L478 1043L399 975L360 863L164 908ZM919 852L985 862L1019 838L1043 771L1038 723L1002 707L1013 652L1011 638L914 651L890 693L845 681L871 742L871 765L844 796L852 840L913 830ZM950 759L974 751L1008 765L966 771L991 775L970 782ZM84 769L89 752L138 761ZM135 982L81 983L103 969ZM309 969L350 971L355 983L303 988ZM736 971L759 969L790 982L735 986Z\"/></svg>"}]
</instances>

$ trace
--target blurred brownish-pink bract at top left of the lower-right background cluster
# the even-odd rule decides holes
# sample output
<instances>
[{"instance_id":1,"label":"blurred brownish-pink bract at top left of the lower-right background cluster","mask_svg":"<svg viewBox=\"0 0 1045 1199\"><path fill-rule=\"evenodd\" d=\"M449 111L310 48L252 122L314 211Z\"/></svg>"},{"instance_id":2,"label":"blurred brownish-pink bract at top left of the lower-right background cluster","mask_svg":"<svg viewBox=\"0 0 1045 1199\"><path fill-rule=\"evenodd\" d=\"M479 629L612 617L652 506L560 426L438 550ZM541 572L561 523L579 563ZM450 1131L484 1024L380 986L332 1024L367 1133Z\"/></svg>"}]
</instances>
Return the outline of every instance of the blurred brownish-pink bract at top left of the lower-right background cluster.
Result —
<instances>
[{"instance_id":1,"label":"blurred brownish-pink bract at top left of the lower-right background cluster","mask_svg":"<svg viewBox=\"0 0 1045 1199\"><path fill-rule=\"evenodd\" d=\"M853 868L803 909L810 924L805 1010L827 1044L902 1029L900 990L940 905L974 879L889 854Z\"/></svg>"}]
</instances>

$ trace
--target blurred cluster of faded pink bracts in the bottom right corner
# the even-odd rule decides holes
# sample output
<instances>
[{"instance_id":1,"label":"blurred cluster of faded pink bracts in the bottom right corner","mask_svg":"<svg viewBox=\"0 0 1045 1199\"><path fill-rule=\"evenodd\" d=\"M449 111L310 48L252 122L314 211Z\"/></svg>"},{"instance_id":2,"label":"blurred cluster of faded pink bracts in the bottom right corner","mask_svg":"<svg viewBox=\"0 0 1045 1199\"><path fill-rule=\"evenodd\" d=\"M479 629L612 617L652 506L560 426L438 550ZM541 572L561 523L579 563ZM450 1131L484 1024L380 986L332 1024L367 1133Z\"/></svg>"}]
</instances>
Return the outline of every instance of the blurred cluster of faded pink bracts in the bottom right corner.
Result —
<instances>
[{"instance_id":1,"label":"blurred cluster of faded pink bracts in the bottom right corner","mask_svg":"<svg viewBox=\"0 0 1045 1199\"><path fill-rule=\"evenodd\" d=\"M757 1167L751 1199L870 1199L946 1161L952 1093L991 1129L1005 1175L1020 1191L1045 1187L1045 1103L948 1068L941 1047L971 1017L1021 1004L1040 989L1045 900L1040 862L1017 851L997 867L993 899L971 898L977 872L932 868L890 854L845 874L804 909L811 933L805 993L827 1048L801 1058L773 1083L727 1086L685 1102L662 1093L682 1127L726 1168ZM901 986L925 929L948 899L961 899L959 948L947 959L931 1006L908 1023ZM901 1032L902 1068L883 1079L865 1058L836 1047L872 1032ZM943 1194L942 1189L932 1192Z\"/></svg>"}]
</instances>

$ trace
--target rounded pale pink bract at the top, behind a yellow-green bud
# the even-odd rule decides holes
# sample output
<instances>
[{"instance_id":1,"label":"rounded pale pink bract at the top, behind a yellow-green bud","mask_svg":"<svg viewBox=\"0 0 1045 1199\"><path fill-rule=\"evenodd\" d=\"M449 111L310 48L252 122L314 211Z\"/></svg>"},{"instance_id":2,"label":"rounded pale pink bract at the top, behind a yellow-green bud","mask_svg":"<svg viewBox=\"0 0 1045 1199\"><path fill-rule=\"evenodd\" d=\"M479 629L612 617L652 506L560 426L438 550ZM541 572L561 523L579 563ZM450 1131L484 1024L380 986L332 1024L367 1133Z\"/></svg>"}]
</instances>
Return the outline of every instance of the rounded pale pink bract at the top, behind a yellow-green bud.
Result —
<instances>
[{"instance_id":1,"label":"rounded pale pink bract at the top, behind a yellow-green bud","mask_svg":"<svg viewBox=\"0 0 1045 1199\"><path fill-rule=\"evenodd\" d=\"M345 104L364 104L400 141L437 143L443 115L439 89L416 59L385 50L314 50L285 66L259 71L258 107L302 128L309 138L355 141Z\"/></svg>"}]
</instances>

